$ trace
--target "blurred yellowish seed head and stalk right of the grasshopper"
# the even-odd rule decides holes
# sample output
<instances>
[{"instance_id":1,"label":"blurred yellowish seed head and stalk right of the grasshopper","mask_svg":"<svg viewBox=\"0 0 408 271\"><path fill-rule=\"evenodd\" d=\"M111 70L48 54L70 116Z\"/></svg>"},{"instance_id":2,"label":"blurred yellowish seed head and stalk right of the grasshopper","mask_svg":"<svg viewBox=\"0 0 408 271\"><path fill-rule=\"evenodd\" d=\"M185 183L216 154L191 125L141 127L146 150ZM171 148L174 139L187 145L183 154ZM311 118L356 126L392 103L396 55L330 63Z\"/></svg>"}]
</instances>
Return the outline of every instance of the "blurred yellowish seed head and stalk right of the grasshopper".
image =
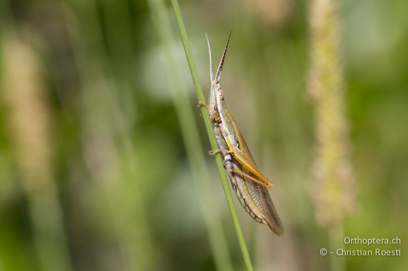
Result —
<instances>
[{"instance_id":1,"label":"blurred yellowish seed head and stalk right of the grasshopper","mask_svg":"<svg viewBox=\"0 0 408 271\"><path fill-rule=\"evenodd\" d=\"M310 8L312 48L307 91L314 105L316 135L312 193L316 220L328 228L329 246L334 251L342 246L343 217L355 201L341 65L341 24L335 0L313 0ZM344 257L329 259L332 271L346 269Z\"/></svg>"}]
</instances>

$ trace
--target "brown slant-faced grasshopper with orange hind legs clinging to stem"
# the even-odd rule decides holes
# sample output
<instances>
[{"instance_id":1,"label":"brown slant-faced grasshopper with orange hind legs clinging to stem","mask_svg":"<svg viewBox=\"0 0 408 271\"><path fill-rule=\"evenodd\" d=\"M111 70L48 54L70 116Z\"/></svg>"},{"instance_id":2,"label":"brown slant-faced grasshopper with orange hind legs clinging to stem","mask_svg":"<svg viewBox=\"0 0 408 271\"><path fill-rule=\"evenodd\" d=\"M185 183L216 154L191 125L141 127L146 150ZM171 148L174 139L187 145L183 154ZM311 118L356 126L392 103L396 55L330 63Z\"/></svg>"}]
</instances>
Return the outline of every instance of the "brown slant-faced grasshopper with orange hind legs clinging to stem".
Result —
<instances>
[{"instance_id":1,"label":"brown slant-faced grasshopper with orange hind legs clinging to stem","mask_svg":"<svg viewBox=\"0 0 408 271\"><path fill-rule=\"evenodd\" d=\"M209 109L219 148L215 152L210 152L210 154L221 153L232 187L247 213L257 222L268 225L276 235L282 236L284 228L267 191L267 188L271 188L273 184L254 162L241 131L226 106L223 91L219 84L230 38L231 31L214 77L210 43L207 37L210 55L210 103L209 105L201 105Z\"/></svg>"}]
</instances>

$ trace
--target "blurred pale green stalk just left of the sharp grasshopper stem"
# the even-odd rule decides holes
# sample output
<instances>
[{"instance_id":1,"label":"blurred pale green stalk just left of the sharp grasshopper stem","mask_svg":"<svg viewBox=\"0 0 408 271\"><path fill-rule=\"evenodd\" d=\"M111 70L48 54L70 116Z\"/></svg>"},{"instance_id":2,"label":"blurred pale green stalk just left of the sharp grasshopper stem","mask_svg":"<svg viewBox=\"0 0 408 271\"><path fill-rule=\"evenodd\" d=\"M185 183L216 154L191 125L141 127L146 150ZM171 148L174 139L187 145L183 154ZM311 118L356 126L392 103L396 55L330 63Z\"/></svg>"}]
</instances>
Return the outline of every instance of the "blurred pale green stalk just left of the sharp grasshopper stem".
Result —
<instances>
[{"instance_id":1,"label":"blurred pale green stalk just left of the sharp grasshopper stem","mask_svg":"<svg viewBox=\"0 0 408 271\"><path fill-rule=\"evenodd\" d=\"M191 166L197 197L200 202L201 212L206 224L207 233L210 238L210 245L218 270L233 270L231 255L228 251L226 238L222 230L222 224L218 208L211 195L210 174L204 157L194 114L190 106L187 89L181 81L179 65L177 65L176 52L172 45L174 39L170 27L170 19L166 10L164 0L149 0L150 12L155 23L159 37L159 44L163 48L163 55L166 61L169 88L175 105L177 118L183 135L187 157Z\"/></svg>"}]
</instances>

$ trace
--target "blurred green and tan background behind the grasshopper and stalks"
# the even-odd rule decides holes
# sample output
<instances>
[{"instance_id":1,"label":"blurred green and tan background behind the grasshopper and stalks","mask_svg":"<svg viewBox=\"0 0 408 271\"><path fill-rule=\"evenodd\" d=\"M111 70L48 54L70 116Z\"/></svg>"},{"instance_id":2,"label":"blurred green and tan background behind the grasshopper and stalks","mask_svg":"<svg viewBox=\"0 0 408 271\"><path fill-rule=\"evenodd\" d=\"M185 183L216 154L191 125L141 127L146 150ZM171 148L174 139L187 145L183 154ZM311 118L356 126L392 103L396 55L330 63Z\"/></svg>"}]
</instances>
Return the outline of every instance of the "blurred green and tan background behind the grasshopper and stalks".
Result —
<instances>
[{"instance_id":1,"label":"blurred green and tan background behind the grasshopper and stalks","mask_svg":"<svg viewBox=\"0 0 408 271\"><path fill-rule=\"evenodd\" d=\"M205 33L217 63L233 27L222 86L253 157L274 182L271 195L286 230L273 235L234 198L256 270L330 266L330 256L319 255L329 238L315 220L311 196L309 4L180 1L206 97ZM166 5L170 32L155 26L157 6L144 1L1 2L0 270L216 268L160 29L172 37L166 44L171 69L181 75L193 108L212 192L207 200L221 219L227 258L234 270L244 268ZM408 4L344 0L338 6L356 194L343 235L398 236L401 245L370 249L401 248L402 254L344 257L345 268L406 270Z\"/></svg>"}]
</instances>

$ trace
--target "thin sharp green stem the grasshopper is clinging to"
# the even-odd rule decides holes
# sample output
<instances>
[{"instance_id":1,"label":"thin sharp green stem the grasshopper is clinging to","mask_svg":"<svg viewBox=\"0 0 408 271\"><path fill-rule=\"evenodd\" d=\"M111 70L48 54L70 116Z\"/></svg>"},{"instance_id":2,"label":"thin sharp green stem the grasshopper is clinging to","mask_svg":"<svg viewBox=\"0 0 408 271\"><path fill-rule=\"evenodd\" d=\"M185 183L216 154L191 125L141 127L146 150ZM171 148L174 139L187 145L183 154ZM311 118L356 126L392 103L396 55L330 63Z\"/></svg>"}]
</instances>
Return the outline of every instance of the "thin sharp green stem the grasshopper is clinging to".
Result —
<instances>
[{"instance_id":1,"label":"thin sharp green stem the grasshopper is clinging to","mask_svg":"<svg viewBox=\"0 0 408 271\"><path fill-rule=\"evenodd\" d=\"M197 74L197 70L195 68L191 48L190 48L190 45L189 45L189 42L188 42L188 39L187 39L186 27L184 26L184 22L183 22L183 18L182 18L182 15L181 15L179 4L177 3L177 0L171 0L171 4L173 6L177 26L179 27L180 36L181 36L182 43L183 43L183 46L184 46L184 50L185 50L185 53L186 53L186 58L187 58L188 66L190 68L190 73L191 73L191 77L192 77L192 80L193 80L193 83L194 83L194 87L195 87L195 90L196 90L198 101L200 101L201 103L206 103L204 95L202 94L202 89L201 89L200 82L198 80L198 74ZM204 123L206 125L207 134L208 134L208 137L210 139L211 147L212 147L213 150L216 150L216 149L218 149L218 145L217 145L217 141L215 139L215 135L214 135L213 127L212 127L212 124L211 124L210 116L209 116L209 114L207 112L207 109L205 107L203 107L203 106L201 107L201 113L202 113L202 118L204 120ZM231 217L232 217L232 220L233 220L233 223L234 223L234 226L235 226L235 230L237 232L237 237L238 237L238 242L239 242L239 245L240 245L242 257L244 259L246 269L249 271L249 270L253 269L252 268L252 263L251 263L251 259L250 259L250 256L249 256L248 248L247 248L246 243L245 243L244 235L242 233L241 225L240 225L239 220L238 220L237 210L236 210L235 205L234 205L233 196L231 194L230 186L228 185L228 180L227 180L227 177L226 177L226 174L225 174L225 170L224 170L224 167L223 167L223 163L222 163L220 154L215 155L215 161L216 161L216 164L217 164L217 167L218 167L218 172L220 174L221 183L222 183L222 187L224 189L224 194L225 194L225 198L226 198L226 201L227 201L227 204L228 204L228 208L230 208Z\"/></svg>"}]
</instances>

